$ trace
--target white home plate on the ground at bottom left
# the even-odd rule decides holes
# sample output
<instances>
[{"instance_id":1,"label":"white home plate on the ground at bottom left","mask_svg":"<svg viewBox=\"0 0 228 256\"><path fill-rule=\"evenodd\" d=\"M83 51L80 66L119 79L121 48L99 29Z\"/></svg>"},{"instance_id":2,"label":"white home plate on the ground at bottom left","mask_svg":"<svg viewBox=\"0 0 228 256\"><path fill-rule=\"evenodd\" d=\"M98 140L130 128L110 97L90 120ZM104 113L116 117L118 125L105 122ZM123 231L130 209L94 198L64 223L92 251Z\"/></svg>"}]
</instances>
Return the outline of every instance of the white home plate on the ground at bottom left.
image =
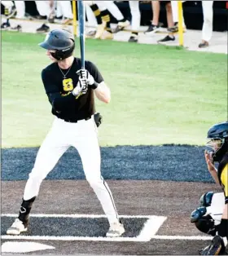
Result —
<instances>
[{"instance_id":1,"label":"white home plate on the ground at bottom left","mask_svg":"<svg viewBox=\"0 0 228 256\"><path fill-rule=\"evenodd\" d=\"M43 245L34 242L5 242L2 244L2 253L29 253L36 250L55 249L50 245Z\"/></svg>"}]
</instances>

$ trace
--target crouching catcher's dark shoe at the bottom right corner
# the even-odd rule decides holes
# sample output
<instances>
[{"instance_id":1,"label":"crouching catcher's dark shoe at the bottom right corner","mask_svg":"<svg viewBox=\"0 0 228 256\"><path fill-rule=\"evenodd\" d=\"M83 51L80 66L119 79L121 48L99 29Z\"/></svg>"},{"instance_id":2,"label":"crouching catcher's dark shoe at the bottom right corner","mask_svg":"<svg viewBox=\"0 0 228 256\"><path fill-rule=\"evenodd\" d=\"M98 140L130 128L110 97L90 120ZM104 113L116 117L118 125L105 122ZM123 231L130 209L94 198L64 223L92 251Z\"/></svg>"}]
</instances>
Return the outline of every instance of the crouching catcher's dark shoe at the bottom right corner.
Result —
<instances>
[{"instance_id":1,"label":"crouching catcher's dark shoe at the bottom right corner","mask_svg":"<svg viewBox=\"0 0 228 256\"><path fill-rule=\"evenodd\" d=\"M199 255L226 255L226 247L221 236L214 236L211 245L201 249Z\"/></svg>"}]
</instances>

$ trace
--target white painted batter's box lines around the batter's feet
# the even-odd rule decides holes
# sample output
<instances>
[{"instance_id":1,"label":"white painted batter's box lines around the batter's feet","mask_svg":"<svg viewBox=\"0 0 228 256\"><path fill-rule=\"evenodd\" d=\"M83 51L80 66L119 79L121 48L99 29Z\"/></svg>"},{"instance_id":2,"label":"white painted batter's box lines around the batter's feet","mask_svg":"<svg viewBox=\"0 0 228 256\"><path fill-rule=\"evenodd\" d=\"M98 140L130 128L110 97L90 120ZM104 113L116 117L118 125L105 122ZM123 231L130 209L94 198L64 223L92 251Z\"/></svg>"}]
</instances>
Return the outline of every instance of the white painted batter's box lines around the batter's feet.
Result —
<instances>
[{"instance_id":1,"label":"white painted batter's box lines around the batter's feet","mask_svg":"<svg viewBox=\"0 0 228 256\"><path fill-rule=\"evenodd\" d=\"M2 214L2 217L17 217L17 214ZM30 214L35 218L107 218L97 214ZM2 239L48 240L48 241L150 241L160 229L167 217L156 215L119 215L120 218L148 218L141 232L135 237L91 237L91 236L1 236Z\"/></svg>"}]
</instances>

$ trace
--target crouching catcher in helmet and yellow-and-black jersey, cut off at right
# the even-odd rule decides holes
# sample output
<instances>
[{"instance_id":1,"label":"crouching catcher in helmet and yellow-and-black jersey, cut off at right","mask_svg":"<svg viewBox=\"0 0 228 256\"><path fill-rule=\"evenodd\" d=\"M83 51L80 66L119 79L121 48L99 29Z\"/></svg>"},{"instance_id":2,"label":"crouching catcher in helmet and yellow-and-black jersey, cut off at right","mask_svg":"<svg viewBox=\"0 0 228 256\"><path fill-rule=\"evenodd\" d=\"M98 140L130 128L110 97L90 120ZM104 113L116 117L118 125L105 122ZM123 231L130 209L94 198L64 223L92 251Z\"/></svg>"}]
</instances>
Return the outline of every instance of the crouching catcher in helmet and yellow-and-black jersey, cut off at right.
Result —
<instances>
[{"instance_id":1,"label":"crouching catcher in helmet and yellow-and-black jersey, cut off at right","mask_svg":"<svg viewBox=\"0 0 228 256\"><path fill-rule=\"evenodd\" d=\"M201 232L213 236L211 244L201 249L199 255L226 255L228 239L228 121L218 123L208 130L205 160L208 171L223 192L207 192L200 198L200 207L191 213L191 223ZM218 167L214 166L218 162Z\"/></svg>"}]
</instances>

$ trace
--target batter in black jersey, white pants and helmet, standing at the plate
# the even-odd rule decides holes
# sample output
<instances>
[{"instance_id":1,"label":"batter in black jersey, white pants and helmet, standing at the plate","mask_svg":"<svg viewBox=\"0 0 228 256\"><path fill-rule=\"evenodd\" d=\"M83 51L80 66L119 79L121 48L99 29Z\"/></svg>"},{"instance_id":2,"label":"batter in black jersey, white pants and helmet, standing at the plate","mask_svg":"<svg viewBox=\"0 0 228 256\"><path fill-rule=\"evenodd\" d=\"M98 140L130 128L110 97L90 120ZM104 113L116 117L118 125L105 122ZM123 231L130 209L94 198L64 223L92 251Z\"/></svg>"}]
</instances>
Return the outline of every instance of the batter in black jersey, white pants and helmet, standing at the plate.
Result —
<instances>
[{"instance_id":1,"label":"batter in black jersey, white pants and helmet, standing at the plate","mask_svg":"<svg viewBox=\"0 0 228 256\"><path fill-rule=\"evenodd\" d=\"M72 146L77 148L85 178L94 189L107 215L110 223L107 236L121 236L125 228L119 221L112 192L101 176L97 126L94 122L94 95L108 103L110 90L92 62L85 61L85 69L81 69L81 59L72 55L75 42L73 35L68 31L52 30L39 46L47 50L46 55L53 62L42 70L42 82L55 121L37 152L33 170L24 189L19 216L8 228L7 234L19 235L20 232L27 231L29 213L42 180Z\"/></svg>"}]
</instances>

